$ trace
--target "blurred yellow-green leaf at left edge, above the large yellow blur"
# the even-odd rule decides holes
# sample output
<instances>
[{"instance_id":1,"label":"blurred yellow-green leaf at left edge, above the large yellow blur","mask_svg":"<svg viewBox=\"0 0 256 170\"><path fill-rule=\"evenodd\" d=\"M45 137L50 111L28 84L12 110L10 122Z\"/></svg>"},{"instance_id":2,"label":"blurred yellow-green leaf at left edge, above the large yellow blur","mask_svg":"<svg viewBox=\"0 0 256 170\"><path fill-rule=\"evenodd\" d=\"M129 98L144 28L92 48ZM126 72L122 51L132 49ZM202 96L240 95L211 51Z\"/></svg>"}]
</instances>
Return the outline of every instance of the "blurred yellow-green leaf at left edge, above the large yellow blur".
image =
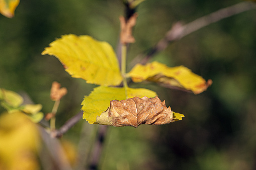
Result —
<instances>
[{"instance_id":1,"label":"blurred yellow-green leaf at left edge, above the large yellow blur","mask_svg":"<svg viewBox=\"0 0 256 170\"><path fill-rule=\"evenodd\" d=\"M23 98L14 91L0 89L1 105L8 111L16 110L23 103Z\"/></svg>"}]
</instances>

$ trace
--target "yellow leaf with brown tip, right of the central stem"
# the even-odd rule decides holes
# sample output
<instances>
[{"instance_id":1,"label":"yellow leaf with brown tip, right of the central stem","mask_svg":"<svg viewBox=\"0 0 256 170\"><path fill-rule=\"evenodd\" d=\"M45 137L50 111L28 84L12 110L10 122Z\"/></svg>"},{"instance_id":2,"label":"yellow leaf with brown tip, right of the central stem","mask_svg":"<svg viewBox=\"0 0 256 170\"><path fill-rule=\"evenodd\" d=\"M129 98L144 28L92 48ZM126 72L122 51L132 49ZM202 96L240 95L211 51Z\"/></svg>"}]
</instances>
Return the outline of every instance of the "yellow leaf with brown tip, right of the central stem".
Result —
<instances>
[{"instance_id":1,"label":"yellow leaf with brown tip, right of the central stem","mask_svg":"<svg viewBox=\"0 0 256 170\"><path fill-rule=\"evenodd\" d=\"M189 90L194 94L202 93L212 84L211 80L206 82L187 67L171 68L158 62L137 64L127 75L134 82L153 81L165 87Z\"/></svg>"}]
</instances>

